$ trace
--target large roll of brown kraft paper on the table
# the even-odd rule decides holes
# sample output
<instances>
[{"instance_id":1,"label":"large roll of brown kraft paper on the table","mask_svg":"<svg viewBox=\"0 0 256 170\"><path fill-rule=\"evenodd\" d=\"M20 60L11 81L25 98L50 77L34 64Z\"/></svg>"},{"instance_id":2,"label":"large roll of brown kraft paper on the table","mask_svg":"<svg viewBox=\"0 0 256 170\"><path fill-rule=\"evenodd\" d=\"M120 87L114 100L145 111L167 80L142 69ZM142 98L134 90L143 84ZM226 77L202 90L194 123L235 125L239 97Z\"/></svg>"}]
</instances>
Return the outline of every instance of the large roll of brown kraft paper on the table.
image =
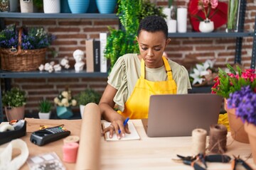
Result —
<instances>
[{"instance_id":1,"label":"large roll of brown kraft paper on the table","mask_svg":"<svg viewBox=\"0 0 256 170\"><path fill-rule=\"evenodd\" d=\"M82 115L76 170L100 169L100 137L100 108L88 103Z\"/></svg>"}]
</instances>

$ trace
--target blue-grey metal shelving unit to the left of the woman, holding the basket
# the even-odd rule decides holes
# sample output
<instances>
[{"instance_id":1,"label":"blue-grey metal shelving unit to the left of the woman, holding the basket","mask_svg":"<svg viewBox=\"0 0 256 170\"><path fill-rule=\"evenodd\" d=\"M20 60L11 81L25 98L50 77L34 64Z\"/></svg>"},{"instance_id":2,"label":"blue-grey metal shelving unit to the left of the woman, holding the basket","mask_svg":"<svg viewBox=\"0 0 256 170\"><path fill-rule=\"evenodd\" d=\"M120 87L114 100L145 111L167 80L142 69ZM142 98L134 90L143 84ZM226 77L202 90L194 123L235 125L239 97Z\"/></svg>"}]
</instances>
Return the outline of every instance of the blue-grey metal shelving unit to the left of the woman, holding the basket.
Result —
<instances>
[{"instance_id":1,"label":"blue-grey metal shelving unit to the left of the woman, holding the basket","mask_svg":"<svg viewBox=\"0 0 256 170\"><path fill-rule=\"evenodd\" d=\"M2 18L92 18L92 19L118 19L116 13L101 14L101 13L0 13L1 28L4 28L4 22ZM11 78L63 78L63 77L107 77L107 73L102 72L75 72L75 70L63 70L61 72L6 72L0 70L0 91L1 90L1 79L7 80ZM8 81L7 85L10 86ZM1 101L1 93L0 93ZM0 123L4 120L3 107L0 102Z\"/></svg>"}]
</instances>

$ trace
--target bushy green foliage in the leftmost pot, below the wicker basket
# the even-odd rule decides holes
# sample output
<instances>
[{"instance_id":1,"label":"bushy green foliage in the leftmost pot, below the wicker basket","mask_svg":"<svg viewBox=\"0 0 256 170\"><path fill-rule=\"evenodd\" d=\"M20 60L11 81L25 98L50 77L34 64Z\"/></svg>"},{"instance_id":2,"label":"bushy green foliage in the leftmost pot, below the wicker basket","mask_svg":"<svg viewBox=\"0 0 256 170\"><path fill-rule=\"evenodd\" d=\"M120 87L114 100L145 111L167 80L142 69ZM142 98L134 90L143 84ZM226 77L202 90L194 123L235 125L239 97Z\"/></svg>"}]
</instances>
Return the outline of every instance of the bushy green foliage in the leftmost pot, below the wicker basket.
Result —
<instances>
[{"instance_id":1,"label":"bushy green foliage in the leftmost pot, below the wicker basket","mask_svg":"<svg viewBox=\"0 0 256 170\"><path fill-rule=\"evenodd\" d=\"M26 104L26 91L14 87L11 91L4 91L2 98L3 106L21 107Z\"/></svg>"}]
</instances>

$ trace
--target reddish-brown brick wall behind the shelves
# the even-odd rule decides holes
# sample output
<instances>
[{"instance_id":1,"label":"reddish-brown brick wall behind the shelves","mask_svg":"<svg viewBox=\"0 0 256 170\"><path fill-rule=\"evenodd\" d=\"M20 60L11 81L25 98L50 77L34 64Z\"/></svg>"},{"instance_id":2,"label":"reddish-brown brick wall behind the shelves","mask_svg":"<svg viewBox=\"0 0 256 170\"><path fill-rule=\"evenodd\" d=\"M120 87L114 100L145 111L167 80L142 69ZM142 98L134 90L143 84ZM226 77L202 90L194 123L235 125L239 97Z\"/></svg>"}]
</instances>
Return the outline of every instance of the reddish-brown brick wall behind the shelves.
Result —
<instances>
[{"instance_id":1,"label":"reddish-brown brick wall behind the shelves","mask_svg":"<svg viewBox=\"0 0 256 170\"><path fill-rule=\"evenodd\" d=\"M189 0L176 1L177 6L188 6ZM167 0L156 1L158 6L167 6ZM245 19L245 31L253 31L255 23L256 4L253 0L247 0ZM119 27L117 19L32 19L32 18L8 18L5 24L16 23L17 26L44 26L46 30L57 36L51 46L58 52L58 57L53 57L48 52L48 61L59 62L68 56L71 67L74 65L73 51L80 49L84 52L86 38L99 38L101 31L107 31L107 26ZM191 25L188 21L188 30ZM218 30L225 30L225 26ZM235 38L171 38L171 43L166 48L171 60L191 67L193 61L203 62L207 59L216 60L216 67L225 67L228 62L234 61ZM250 67L252 56L252 38L243 38L242 42L242 65ZM191 62L192 61L192 62ZM38 101L41 98L53 98L58 92L69 86L73 95L87 87L91 87L100 93L105 89L107 78L66 78L66 79L11 79L11 84L19 86L28 92L26 114L37 113ZM4 87L4 86L3 86ZM3 88L4 89L4 88ZM79 108L73 108L78 111ZM53 109L53 112L55 109Z\"/></svg>"}]
</instances>

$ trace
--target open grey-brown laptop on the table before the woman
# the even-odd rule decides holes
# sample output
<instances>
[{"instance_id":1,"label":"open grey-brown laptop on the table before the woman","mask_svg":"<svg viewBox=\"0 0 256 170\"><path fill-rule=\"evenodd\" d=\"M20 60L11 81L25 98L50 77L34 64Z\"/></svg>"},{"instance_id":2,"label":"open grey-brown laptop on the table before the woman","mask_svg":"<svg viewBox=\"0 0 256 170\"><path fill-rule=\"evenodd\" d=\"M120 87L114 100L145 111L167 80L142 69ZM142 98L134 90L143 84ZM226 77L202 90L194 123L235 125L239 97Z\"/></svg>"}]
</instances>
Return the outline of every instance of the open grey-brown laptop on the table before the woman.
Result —
<instances>
[{"instance_id":1,"label":"open grey-brown laptop on the table before the woman","mask_svg":"<svg viewBox=\"0 0 256 170\"><path fill-rule=\"evenodd\" d=\"M218 123L222 102L216 94L152 95L148 119L142 123L148 137L191 136L196 128L209 132Z\"/></svg>"}]
</instances>

